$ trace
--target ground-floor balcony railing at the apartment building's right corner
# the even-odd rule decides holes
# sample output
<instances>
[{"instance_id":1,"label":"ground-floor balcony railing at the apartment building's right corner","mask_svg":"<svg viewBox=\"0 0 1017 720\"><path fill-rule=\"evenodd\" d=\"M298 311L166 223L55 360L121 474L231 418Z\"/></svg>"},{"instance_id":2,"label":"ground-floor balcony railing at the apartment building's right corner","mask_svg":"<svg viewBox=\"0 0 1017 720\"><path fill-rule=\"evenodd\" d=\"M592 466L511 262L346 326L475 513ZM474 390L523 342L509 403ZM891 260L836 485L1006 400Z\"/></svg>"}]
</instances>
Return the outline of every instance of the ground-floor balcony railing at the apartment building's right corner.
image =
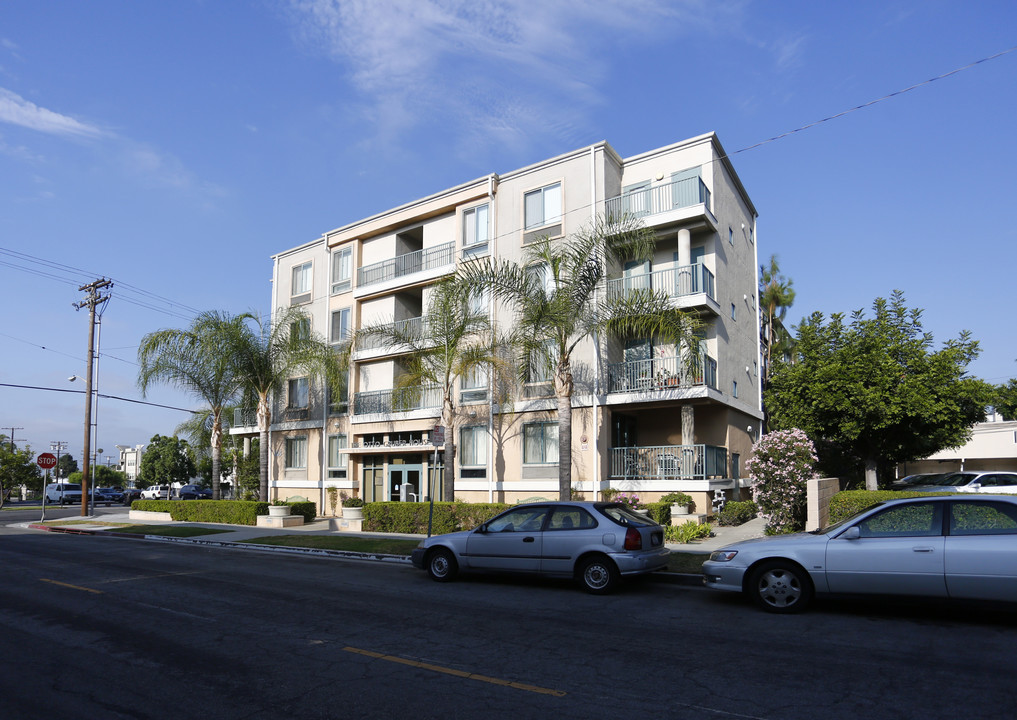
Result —
<instances>
[{"instance_id":1,"label":"ground-floor balcony railing at the apartment building's right corner","mask_svg":"<svg viewBox=\"0 0 1017 720\"><path fill-rule=\"evenodd\" d=\"M727 477L727 448L716 445L611 447L611 478L708 480Z\"/></svg>"}]
</instances>

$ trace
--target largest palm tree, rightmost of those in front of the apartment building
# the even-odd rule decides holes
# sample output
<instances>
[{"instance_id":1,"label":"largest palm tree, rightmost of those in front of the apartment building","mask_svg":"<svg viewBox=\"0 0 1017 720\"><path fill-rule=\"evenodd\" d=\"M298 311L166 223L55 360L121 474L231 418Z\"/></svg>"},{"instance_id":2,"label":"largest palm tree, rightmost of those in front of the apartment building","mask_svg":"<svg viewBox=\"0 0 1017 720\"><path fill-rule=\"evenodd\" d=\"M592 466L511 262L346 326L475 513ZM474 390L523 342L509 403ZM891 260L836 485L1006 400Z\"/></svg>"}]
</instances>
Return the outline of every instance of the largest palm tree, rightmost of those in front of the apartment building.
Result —
<instances>
[{"instance_id":1,"label":"largest palm tree, rightmost of those in front of the apartment building","mask_svg":"<svg viewBox=\"0 0 1017 720\"><path fill-rule=\"evenodd\" d=\"M512 346L520 380L549 372L557 401L558 493L572 498L572 359L577 347L600 334L655 338L692 352L698 361L699 323L676 309L666 292L650 289L624 294L602 291L610 266L652 258L656 236L630 216L598 219L575 235L538 238L523 248L523 263L487 258L464 265L464 282L489 289L514 306Z\"/></svg>"}]
</instances>

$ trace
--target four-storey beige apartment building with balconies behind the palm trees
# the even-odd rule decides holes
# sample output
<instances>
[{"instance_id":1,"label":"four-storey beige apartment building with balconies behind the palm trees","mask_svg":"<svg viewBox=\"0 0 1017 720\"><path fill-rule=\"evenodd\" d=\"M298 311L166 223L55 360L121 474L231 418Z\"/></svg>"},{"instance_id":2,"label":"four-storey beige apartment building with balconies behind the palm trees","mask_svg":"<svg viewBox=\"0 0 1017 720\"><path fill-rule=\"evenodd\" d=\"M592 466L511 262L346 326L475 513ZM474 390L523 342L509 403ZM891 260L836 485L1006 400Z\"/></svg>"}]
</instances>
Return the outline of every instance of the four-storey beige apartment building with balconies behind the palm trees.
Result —
<instances>
[{"instance_id":1,"label":"four-storey beige apartment building with balconies behind the palm trees","mask_svg":"<svg viewBox=\"0 0 1017 720\"><path fill-rule=\"evenodd\" d=\"M714 491L742 486L763 416L757 213L713 133L627 159L598 142L349 223L273 257L273 308L304 308L331 342L363 324L421 322L430 286L460 262L519 261L537 236L620 213L655 231L657 250L652 261L614 268L603 292L667 289L703 321L706 351L689 373L673 346L652 338L581 345L573 484L587 498L608 487L646 499L681 490L709 507ZM511 321L500 303L488 309ZM272 497L303 495L319 512L327 486L367 500L397 500L412 486L423 499L435 449L440 482L443 445L430 436L440 393L410 397L397 389L401 373L399 348L368 347L353 358L349 398L326 397L317 378L291 378L273 409ZM513 397L502 407L485 377L463 382L457 497L557 496L550 383L528 382ZM231 432L256 432L253 414L238 414Z\"/></svg>"}]
</instances>

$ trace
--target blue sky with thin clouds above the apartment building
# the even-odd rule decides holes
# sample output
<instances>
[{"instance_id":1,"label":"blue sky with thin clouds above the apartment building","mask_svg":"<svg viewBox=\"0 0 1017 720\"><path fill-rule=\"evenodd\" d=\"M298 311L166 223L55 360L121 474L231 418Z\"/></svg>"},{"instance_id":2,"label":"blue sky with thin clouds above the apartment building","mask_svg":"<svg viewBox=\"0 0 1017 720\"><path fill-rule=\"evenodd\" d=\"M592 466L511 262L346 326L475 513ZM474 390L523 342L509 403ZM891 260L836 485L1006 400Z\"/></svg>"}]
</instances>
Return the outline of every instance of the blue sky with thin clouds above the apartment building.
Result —
<instances>
[{"instance_id":1,"label":"blue sky with thin clouds above the apartment building","mask_svg":"<svg viewBox=\"0 0 1017 720\"><path fill-rule=\"evenodd\" d=\"M141 396L141 338L267 314L273 254L600 140L625 158L710 131L790 323L900 290L937 348L969 331L969 372L1005 382L1015 46L1012 0L4 0L0 433L80 458L93 281L113 282L115 462L200 406Z\"/></svg>"}]
</instances>

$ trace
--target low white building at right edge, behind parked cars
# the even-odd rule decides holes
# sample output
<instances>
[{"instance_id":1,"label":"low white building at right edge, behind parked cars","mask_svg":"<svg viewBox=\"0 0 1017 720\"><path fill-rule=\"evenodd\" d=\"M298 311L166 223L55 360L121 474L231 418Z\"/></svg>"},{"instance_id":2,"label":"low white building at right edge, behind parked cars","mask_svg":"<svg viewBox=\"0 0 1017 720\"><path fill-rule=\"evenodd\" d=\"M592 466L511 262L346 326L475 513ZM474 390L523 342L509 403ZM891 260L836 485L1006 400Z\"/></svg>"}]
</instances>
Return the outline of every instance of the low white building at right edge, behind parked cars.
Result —
<instances>
[{"instance_id":1,"label":"low white building at right edge, behind parked cars","mask_svg":"<svg viewBox=\"0 0 1017 720\"><path fill-rule=\"evenodd\" d=\"M947 473L959 470L1017 472L1017 421L991 413L971 428L971 439L961 447L941 451L924 460L901 464L898 475Z\"/></svg>"}]
</instances>

